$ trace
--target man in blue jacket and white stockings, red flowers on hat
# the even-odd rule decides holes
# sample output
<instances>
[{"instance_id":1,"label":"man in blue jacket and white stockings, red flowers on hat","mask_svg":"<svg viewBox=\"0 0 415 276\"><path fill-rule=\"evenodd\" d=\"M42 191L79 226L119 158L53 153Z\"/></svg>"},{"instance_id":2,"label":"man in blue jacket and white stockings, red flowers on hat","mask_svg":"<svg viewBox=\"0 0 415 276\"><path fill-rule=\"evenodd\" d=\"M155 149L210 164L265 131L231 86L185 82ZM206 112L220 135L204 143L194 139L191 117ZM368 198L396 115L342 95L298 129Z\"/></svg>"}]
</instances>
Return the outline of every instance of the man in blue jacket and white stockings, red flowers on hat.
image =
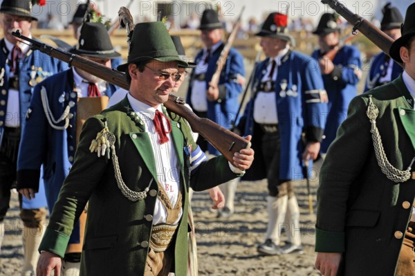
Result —
<instances>
[{"instance_id":1,"label":"man in blue jacket and white stockings, red flowers on hat","mask_svg":"<svg viewBox=\"0 0 415 276\"><path fill-rule=\"evenodd\" d=\"M272 12L257 35L267 58L257 66L254 93L238 127L252 134L256 153L246 179L268 180L266 241L257 249L265 255L302 252L293 187L307 177L302 160L314 160L319 153L326 92L317 61L291 50L287 15ZM288 240L280 246L284 224Z\"/></svg>"}]
</instances>

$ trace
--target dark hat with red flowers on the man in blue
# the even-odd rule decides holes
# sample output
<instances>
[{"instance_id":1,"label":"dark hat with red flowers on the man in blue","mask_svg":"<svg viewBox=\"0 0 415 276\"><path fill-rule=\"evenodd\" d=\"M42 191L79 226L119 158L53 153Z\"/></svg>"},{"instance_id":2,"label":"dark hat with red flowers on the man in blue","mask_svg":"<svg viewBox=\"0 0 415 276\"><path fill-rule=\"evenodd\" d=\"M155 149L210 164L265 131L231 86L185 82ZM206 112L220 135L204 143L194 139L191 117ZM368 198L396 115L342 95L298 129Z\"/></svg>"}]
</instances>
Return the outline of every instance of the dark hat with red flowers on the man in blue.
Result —
<instances>
[{"instance_id":1,"label":"dark hat with red flowers on the man in blue","mask_svg":"<svg viewBox=\"0 0 415 276\"><path fill-rule=\"evenodd\" d=\"M288 15L281 12L271 12L261 26L259 33L255 34L259 37L274 37L291 42L295 46L295 39L288 34Z\"/></svg>"}]
</instances>

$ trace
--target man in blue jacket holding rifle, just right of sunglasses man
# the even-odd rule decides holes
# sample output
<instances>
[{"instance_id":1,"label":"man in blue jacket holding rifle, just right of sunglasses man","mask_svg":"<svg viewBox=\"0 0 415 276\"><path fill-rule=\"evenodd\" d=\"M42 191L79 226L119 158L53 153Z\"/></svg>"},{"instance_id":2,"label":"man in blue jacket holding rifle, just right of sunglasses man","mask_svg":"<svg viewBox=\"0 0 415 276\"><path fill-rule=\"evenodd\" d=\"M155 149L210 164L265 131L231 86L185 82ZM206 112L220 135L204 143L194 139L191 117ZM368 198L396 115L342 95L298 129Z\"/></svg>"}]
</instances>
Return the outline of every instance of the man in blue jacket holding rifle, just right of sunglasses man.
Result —
<instances>
[{"instance_id":1,"label":"man in blue jacket holding rifle, just right of sunglasses man","mask_svg":"<svg viewBox=\"0 0 415 276\"><path fill-rule=\"evenodd\" d=\"M245 70L242 55L234 48L230 48L228 58L222 61L226 63L223 66L219 84L216 86L210 82L212 75L216 72L216 62L225 46L222 41L222 28L223 24L219 21L215 10L203 12L199 29L205 48L195 57L197 66L190 76L186 102L199 117L209 118L221 127L230 129L237 115ZM197 142L203 151L208 150L209 154L219 155L219 151L203 137L199 136ZM228 217L233 214L237 182L237 180L232 180L221 185L226 203L219 215Z\"/></svg>"}]
</instances>

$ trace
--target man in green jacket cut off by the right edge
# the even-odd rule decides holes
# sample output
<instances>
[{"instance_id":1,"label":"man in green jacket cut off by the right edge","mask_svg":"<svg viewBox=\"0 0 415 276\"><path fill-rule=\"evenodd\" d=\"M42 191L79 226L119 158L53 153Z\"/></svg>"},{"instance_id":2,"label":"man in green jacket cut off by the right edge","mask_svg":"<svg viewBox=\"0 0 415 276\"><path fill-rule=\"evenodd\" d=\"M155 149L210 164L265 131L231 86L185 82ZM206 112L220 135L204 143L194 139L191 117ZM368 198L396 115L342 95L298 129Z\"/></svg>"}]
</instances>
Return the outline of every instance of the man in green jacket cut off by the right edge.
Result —
<instances>
[{"instance_id":1,"label":"man in green jacket cut off by the right edge","mask_svg":"<svg viewBox=\"0 0 415 276\"><path fill-rule=\"evenodd\" d=\"M415 275L415 3L389 55L396 80L354 98L317 192L322 275Z\"/></svg>"}]
</instances>

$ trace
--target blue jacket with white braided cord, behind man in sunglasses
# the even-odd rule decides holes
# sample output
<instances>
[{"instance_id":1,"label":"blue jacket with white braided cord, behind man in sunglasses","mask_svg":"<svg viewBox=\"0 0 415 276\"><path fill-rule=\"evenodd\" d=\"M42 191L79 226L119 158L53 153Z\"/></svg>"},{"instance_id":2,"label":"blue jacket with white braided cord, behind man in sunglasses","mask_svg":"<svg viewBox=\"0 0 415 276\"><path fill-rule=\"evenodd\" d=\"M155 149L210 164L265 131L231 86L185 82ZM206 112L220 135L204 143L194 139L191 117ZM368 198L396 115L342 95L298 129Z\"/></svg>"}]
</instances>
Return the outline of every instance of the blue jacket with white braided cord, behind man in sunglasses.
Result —
<instances>
[{"instance_id":1,"label":"blue jacket with white braided cord, behind man in sunglasses","mask_svg":"<svg viewBox=\"0 0 415 276\"><path fill-rule=\"evenodd\" d=\"M17 186L38 190L41 177L40 167L43 165L42 179L50 210L57 201L57 196L75 156L77 91L74 87L72 69L57 73L37 84L21 139L17 161ZM113 91L116 91L116 87L109 84L107 91L101 94L110 97ZM44 93L44 99L42 99L42 93ZM46 116L46 106L48 116ZM64 111L69 112L68 127L64 128L64 121L51 124L50 121L59 119ZM77 239L79 239L79 232ZM71 240L71 243L77 243L77 240Z\"/></svg>"}]
</instances>

